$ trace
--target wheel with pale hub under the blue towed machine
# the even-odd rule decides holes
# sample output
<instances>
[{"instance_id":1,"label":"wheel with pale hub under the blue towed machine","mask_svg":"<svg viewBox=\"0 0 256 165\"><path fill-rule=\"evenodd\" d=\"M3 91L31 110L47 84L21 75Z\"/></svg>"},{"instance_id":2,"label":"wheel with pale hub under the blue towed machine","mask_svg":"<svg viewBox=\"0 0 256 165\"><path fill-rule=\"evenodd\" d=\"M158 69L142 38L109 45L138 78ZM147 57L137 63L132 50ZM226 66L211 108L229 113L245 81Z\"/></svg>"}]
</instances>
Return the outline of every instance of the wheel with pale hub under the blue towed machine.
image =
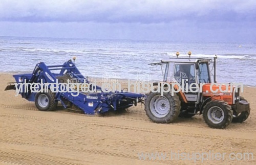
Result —
<instances>
[{"instance_id":1,"label":"wheel with pale hub under the blue towed machine","mask_svg":"<svg viewBox=\"0 0 256 165\"><path fill-rule=\"evenodd\" d=\"M35 95L35 106L40 111L55 110L58 101L55 100L55 93L51 90L48 92L38 92Z\"/></svg>"}]
</instances>

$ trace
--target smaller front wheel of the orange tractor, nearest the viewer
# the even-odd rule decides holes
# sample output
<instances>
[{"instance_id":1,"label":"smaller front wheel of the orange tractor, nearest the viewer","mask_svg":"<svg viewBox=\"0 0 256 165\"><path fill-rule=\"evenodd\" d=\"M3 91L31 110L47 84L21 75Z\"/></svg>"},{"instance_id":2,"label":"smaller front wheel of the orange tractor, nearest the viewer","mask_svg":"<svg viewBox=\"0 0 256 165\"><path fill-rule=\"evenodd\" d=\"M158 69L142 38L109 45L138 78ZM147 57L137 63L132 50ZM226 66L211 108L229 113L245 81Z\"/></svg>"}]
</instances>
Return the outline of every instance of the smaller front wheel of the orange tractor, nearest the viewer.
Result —
<instances>
[{"instance_id":1,"label":"smaller front wheel of the orange tractor, nearest the viewer","mask_svg":"<svg viewBox=\"0 0 256 165\"><path fill-rule=\"evenodd\" d=\"M203 110L205 123L211 128L225 128L233 118L231 107L223 100L212 100L206 103Z\"/></svg>"}]
</instances>

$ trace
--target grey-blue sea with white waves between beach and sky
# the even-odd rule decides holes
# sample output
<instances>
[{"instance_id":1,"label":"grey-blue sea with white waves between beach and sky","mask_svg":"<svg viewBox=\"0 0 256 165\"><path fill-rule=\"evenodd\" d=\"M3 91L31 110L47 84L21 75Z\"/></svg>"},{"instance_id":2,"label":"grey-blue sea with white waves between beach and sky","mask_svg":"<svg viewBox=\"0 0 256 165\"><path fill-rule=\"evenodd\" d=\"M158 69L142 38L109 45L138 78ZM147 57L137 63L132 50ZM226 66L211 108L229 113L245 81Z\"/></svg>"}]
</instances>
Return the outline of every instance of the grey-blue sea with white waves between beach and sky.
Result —
<instances>
[{"instance_id":1,"label":"grey-blue sea with white waves between beach and sky","mask_svg":"<svg viewBox=\"0 0 256 165\"><path fill-rule=\"evenodd\" d=\"M217 55L217 82L256 86L256 43L34 38L0 36L0 72L32 73L35 65L63 64L76 56L85 77L163 80L164 68L149 63L176 57ZM163 69L163 70L162 70Z\"/></svg>"}]
</instances>

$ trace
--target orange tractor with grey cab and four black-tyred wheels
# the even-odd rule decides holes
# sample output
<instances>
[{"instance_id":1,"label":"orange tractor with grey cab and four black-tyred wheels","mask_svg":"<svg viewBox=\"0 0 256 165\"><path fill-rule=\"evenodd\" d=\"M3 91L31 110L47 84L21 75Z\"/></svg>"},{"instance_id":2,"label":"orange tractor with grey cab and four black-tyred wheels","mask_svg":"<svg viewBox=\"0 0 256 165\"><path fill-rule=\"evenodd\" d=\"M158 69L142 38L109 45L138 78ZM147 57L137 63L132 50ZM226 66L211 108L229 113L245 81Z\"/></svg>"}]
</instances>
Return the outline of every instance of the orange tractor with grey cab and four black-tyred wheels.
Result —
<instances>
[{"instance_id":1,"label":"orange tractor with grey cab and four black-tyred wheels","mask_svg":"<svg viewBox=\"0 0 256 165\"><path fill-rule=\"evenodd\" d=\"M225 128L231 122L242 123L250 114L247 100L241 97L240 84L217 84L216 59L170 58L151 63L165 67L163 82L153 83L154 90L147 93L145 111L155 123L172 123L178 117L203 114L211 128ZM212 64L212 67L211 67ZM213 69L214 73L210 71Z\"/></svg>"}]
</instances>

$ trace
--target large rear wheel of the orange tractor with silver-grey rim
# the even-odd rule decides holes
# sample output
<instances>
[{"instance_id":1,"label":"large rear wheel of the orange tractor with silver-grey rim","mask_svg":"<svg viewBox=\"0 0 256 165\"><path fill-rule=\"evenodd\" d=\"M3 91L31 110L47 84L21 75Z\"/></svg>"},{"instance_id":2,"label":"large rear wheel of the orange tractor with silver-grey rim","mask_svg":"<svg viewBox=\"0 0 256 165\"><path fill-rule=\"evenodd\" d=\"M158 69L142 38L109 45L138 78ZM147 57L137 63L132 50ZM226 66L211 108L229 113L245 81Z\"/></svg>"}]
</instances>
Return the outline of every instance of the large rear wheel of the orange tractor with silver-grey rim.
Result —
<instances>
[{"instance_id":1,"label":"large rear wheel of the orange tractor with silver-grey rim","mask_svg":"<svg viewBox=\"0 0 256 165\"><path fill-rule=\"evenodd\" d=\"M146 115L155 123L172 123L179 114L181 102L176 93L150 92L145 100Z\"/></svg>"}]
</instances>

